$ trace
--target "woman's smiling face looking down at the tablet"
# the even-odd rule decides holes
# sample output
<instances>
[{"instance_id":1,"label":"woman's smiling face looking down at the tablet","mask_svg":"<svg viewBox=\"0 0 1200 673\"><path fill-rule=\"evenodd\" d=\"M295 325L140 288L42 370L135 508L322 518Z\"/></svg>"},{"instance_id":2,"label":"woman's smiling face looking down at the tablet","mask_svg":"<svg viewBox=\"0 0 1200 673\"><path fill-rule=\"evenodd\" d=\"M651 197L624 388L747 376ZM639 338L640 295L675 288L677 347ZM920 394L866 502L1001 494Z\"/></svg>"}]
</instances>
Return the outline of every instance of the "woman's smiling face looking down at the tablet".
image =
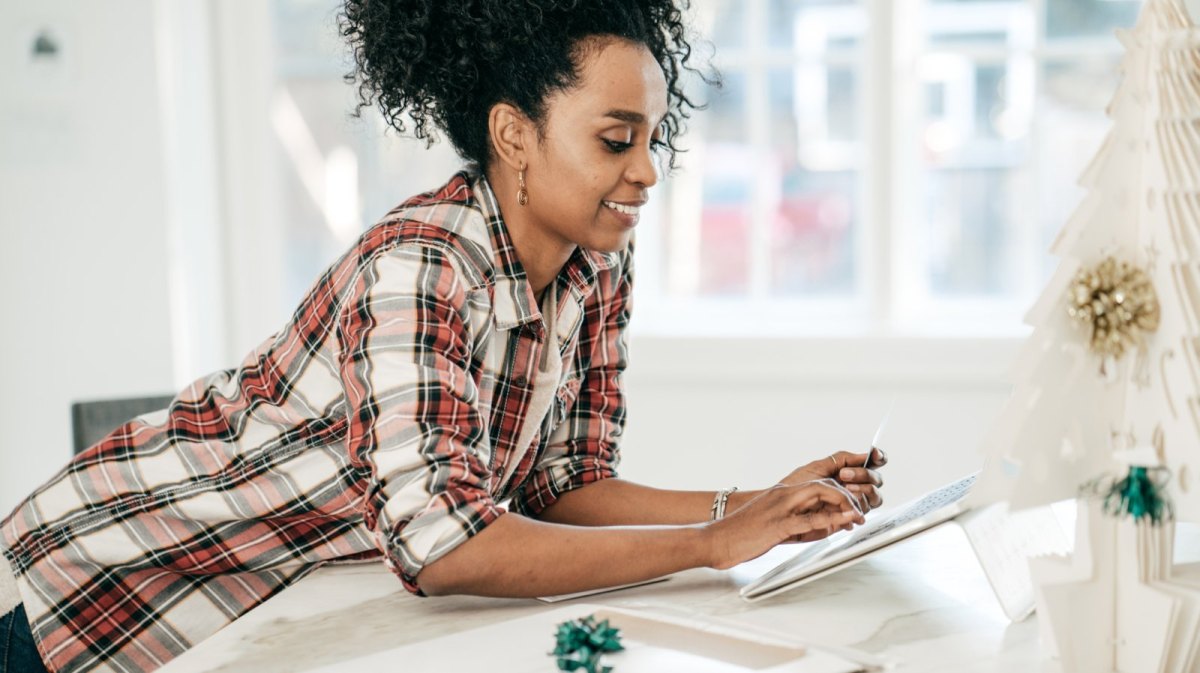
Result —
<instances>
[{"instance_id":1,"label":"woman's smiling face looking down at the tablet","mask_svg":"<svg viewBox=\"0 0 1200 673\"><path fill-rule=\"evenodd\" d=\"M546 102L526 184L530 224L599 252L624 250L658 182L654 150L667 112L662 70L641 44L610 40L588 49L580 82Z\"/></svg>"}]
</instances>

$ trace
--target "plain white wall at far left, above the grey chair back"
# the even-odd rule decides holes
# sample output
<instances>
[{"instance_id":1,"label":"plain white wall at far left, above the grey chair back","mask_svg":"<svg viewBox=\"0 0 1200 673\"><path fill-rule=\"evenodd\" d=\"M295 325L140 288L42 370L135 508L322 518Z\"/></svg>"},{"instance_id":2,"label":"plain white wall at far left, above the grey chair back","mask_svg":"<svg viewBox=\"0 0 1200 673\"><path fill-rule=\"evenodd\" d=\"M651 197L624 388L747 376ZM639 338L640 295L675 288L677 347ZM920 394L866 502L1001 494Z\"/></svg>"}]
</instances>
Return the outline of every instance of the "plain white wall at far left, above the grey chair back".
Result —
<instances>
[{"instance_id":1,"label":"plain white wall at far left, above the grey chair back","mask_svg":"<svg viewBox=\"0 0 1200 673\"><path fill-rule=\"evenodd\" d=\"M150 0L0 4L5 512L70 457L71 401L172 384L154 35Z\"/></svg>"}]
</instances>

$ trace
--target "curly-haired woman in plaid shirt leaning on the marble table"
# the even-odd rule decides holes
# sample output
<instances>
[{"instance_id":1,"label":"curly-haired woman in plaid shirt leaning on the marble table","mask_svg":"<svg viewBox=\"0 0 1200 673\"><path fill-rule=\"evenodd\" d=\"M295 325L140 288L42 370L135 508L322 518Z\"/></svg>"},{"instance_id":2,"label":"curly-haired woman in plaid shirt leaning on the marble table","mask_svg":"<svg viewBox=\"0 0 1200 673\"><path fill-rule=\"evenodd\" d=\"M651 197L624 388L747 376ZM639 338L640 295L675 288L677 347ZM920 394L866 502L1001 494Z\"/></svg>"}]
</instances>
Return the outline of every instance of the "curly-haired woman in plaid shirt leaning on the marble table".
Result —
<instances>
[{"instance_id":1,"label":"curly-haired woman in plaid shirt leaning on the marble table","mask_svg":"<svg viewBox=\"0 0 1200 673\"><path fill-rule=\"evenodd\" d=\"M380 558L418 594L535 596L860 523L881 485L864 453L762 492L616 476L630 241L691 106L680 16L348 0L360 109L443 131L470 168L368 229L239 367L4 522L0 671L152 671L330 561Z\"/></svg>"}]
</instances>

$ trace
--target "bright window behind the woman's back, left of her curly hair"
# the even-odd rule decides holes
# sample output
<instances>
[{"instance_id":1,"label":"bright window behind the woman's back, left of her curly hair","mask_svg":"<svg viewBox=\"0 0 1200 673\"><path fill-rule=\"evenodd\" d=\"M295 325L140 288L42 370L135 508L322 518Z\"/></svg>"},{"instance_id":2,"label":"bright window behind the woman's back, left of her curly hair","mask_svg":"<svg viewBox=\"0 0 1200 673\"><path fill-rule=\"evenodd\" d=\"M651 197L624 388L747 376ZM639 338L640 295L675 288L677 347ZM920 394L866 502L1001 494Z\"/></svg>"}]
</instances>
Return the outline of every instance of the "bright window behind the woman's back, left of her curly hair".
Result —
<instances>
[{"instance_id":1,"label":"bright window behind the woman's back, left of her curly hair","mask_svg":"<svg viewBox=\"0 0 1200 673\"><path fill-rule=\"evenodd\" d=\"M286 294L299 302L362 229L413 194L445 182L461 164L449 143L385 133L373 108L354 118L356 92L337 35L337 0L272 0L271 125L282 161Z\"/></svg>"}]
</instances>

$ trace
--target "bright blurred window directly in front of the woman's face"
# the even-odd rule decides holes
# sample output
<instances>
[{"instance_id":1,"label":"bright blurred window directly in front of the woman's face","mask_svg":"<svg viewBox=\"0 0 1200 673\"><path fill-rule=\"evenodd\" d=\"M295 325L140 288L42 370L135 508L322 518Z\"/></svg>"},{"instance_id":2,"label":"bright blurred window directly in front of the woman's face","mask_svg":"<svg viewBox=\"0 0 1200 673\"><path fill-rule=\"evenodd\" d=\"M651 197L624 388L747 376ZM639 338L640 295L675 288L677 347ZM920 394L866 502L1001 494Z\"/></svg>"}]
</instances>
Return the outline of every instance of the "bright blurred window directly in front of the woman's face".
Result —
<instances>
[{"instance_id":1,"label":"bright blurred window directly in front of the woman's face","mask_svg":"<svg viewBox=\"0 0 1200 673\"><path fill-rule=\"evenodd\" d=\"M659 220L638 230L640 300L653 306L638 320L666 334L863 323L866 8L708 1L694 26L725 84L652 197Z\"/></svg>"}]
</instances>

